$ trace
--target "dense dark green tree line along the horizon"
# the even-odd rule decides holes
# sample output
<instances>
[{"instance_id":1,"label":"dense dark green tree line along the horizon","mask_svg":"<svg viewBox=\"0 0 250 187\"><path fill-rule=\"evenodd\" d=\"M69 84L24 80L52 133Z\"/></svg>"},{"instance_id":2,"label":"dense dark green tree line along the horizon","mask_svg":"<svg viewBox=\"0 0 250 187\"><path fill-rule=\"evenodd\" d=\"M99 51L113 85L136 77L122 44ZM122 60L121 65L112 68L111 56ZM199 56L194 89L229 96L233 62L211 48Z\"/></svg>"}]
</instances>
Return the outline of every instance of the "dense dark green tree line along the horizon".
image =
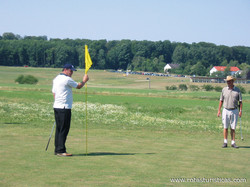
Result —
<instances>
[{"instance_id":1,"label":"dense dark green tree line along the horizon","mask_svg":"<svg viewBox=\"0 0 250 187\"><path fill-rule=\"evenodd\" d=\"M180 64L172 73L208 75L213 66L250 67L250 47L213 43L180 43L135 40L48 39L3 33L0 36L0 65L62 67L71 63L84 68L84 45L88 45L94 69L130 69L163 72L168 63Z\"/></svg>"}]
</instances>

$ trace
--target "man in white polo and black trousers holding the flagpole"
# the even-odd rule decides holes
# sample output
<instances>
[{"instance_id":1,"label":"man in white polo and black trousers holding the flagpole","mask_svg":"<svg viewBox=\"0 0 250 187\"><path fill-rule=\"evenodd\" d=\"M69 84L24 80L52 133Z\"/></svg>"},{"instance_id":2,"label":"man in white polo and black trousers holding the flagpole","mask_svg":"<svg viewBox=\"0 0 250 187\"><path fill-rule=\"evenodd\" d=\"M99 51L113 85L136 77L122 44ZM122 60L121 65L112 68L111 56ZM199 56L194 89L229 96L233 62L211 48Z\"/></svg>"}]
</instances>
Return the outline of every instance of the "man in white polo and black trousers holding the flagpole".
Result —
<instances>
[{"instance_id":1,"label":"man in white polo and black trousers holding the flagpole","mask_svg":"<svg viewBox=\"0 0 250 187\"><path fill-rule=\"evenodd\" d=\"M88 75L85 74L82 82L75 82L71 78L74 71L76 71L76 69L73 65L65 64L62 73L57 75L53 80L53 108L56 121L55 155L58 156L72 156L72 154L67 153L65 147L71 122L71 108L73 103L72 88L81 89L89 80Z\"/></svg>"}]
</instances>

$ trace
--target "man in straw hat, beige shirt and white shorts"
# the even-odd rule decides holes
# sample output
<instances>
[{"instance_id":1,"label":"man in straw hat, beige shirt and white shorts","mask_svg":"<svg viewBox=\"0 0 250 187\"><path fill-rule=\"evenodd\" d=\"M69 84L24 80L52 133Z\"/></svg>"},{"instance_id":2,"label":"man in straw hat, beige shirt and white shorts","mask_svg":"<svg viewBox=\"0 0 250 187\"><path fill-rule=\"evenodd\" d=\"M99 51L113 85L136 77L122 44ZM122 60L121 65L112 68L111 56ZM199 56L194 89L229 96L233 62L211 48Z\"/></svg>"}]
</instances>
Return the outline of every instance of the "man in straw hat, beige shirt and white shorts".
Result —
<instances>
[{"instance_id":1,"label":"man in straw hat, beige shirt and white shorts","mask_svg":"<svg viewBox=\"0 0 250 187\"><path fill-rule=\"evenodd\" d=\"M222 148L227 147L229 126L231 129L231 147L239 148L235 143L235 129L237 126L238 116L242 116L242 96L240 89L234 86L234 77L227 76L224 80L227 82L228 86L222 89L217 114L218 117L221 115L221 107L223 104L224 109L222 112L222 123L224 125L224 143Z\"/></svg>"}]
</instances>

